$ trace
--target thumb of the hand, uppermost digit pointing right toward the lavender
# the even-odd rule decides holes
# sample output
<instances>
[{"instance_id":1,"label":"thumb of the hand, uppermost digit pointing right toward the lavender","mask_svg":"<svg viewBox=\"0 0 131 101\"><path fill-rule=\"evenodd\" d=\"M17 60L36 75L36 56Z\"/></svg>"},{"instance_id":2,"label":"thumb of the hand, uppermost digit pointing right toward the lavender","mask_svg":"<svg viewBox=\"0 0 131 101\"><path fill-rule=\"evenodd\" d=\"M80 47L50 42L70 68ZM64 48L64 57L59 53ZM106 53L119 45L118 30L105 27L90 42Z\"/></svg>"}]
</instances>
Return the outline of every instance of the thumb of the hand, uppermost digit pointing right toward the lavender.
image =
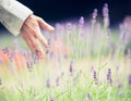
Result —
<instances>
[{"instance_id":1,"label":"thumb of the hand, uppermost digit pointing right toward the lavender","mask_svg":"<svg viewBox=\"0 0 131 101\"><path fill-rule=\"evenodd\" d=\"M50 26L49 24L47 24L43 18L37 16L37 22L39 24L40 27L47 29L47 30L55 30L55 28L52 26Z\"/></svg>"}]
</instances>

